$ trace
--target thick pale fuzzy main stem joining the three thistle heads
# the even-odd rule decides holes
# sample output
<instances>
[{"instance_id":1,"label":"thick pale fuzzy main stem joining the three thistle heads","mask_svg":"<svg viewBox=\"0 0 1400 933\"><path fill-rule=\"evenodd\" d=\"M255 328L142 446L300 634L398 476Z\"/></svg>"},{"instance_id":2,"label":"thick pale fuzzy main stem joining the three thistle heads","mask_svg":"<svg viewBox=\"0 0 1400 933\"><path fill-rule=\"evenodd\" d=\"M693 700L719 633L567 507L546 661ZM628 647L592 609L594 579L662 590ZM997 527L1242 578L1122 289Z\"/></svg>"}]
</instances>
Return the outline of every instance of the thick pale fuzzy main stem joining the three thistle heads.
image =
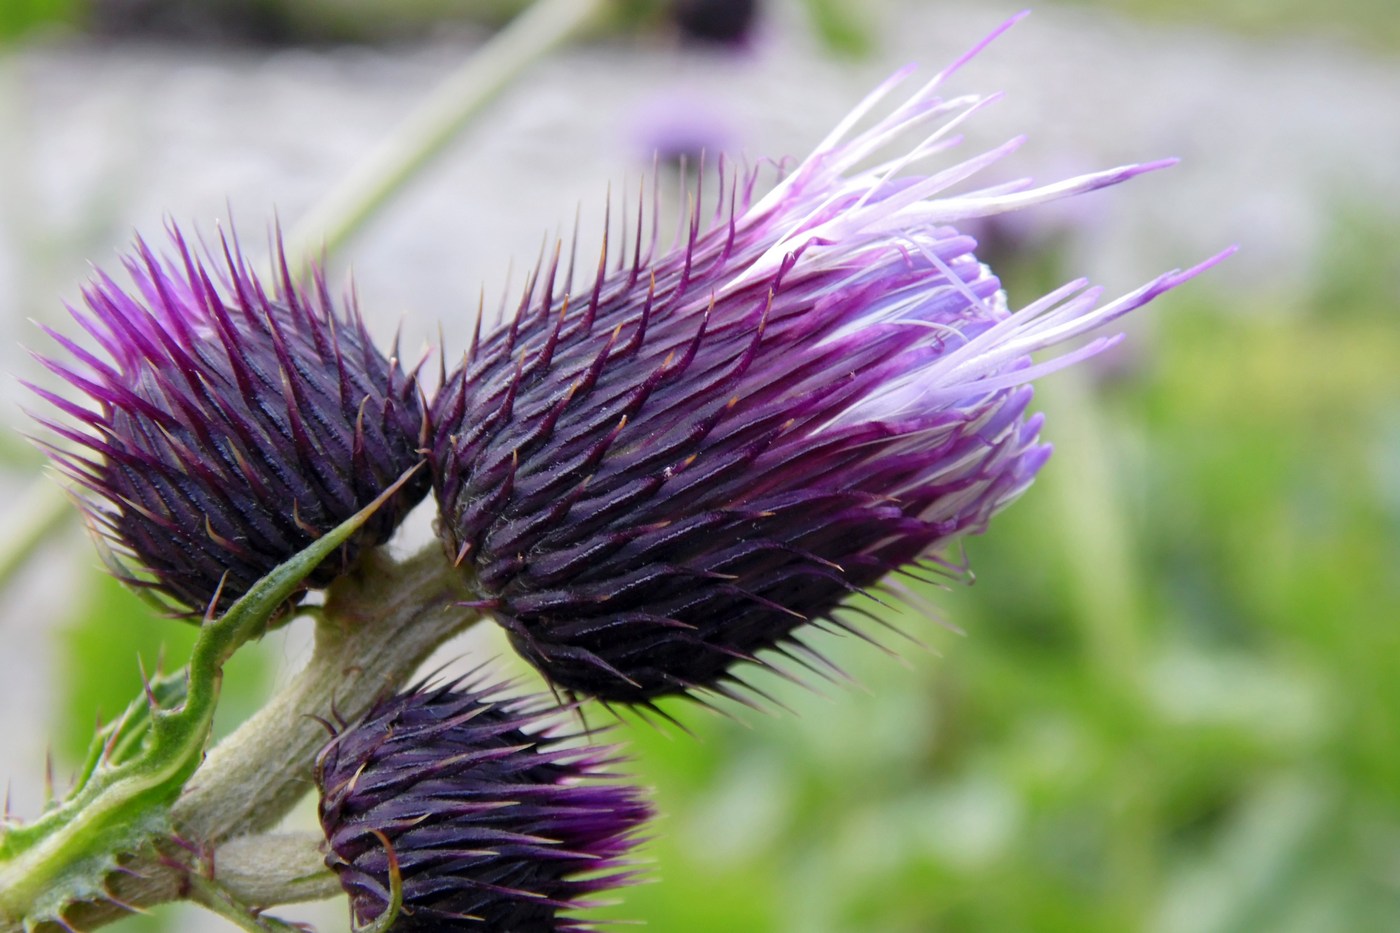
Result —
<instances>
[{"instance_id":1,"label":"thick pale fuzzy main stem joining the three thistle heads","mask_svg":"<svg viewBox=\"0 0 1400 933\"><path fill-rule=\"evenodd\" d=\"M435 647L479 618L458 605L469 598L461 572L437 544L402 563L371 552L336 581L307 667L210 751L171 811L179 838L216 853L216 883L225 843L237 849L239 838L274 825L311 789L311 762L326 741L316 717L358 716L402 686ZM192 869L157 857L125 867L109 885L123 904L144 908L190 894ZM323 895L328 888L323 878L308 884L305 871L266 881L256 892L260 906ZM115 904L84 904L70 911L69 922L88 930L123 915ZM18 929L0 926L0 933Z\"/></svg>"}]
</instances>

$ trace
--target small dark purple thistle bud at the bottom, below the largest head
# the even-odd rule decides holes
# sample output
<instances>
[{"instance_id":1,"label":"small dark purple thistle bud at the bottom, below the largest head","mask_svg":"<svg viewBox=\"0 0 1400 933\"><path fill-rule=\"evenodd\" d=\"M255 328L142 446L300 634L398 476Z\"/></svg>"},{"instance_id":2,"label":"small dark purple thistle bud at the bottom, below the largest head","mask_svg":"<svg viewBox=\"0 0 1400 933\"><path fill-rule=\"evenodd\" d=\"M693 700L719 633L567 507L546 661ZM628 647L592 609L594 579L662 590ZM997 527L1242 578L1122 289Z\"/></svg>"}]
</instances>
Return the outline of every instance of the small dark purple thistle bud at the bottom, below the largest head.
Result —
<instances>
[{"instance_id":1,"label":"small dark purple thistle bud at the bottom, below the largest head","mask_svg":"<svg viewBox=\"0 0 1400 933\"><path fill-rule=\"evenodd\" d=\"M321 751L326 864L357 923L389 905L391 866L393 930L588 930L560 912L633 880L624 856L651 808L612 780L615 749L578 745L550 728L563 710L501 689L410 688Z\"/></svg>"}]
</instances>

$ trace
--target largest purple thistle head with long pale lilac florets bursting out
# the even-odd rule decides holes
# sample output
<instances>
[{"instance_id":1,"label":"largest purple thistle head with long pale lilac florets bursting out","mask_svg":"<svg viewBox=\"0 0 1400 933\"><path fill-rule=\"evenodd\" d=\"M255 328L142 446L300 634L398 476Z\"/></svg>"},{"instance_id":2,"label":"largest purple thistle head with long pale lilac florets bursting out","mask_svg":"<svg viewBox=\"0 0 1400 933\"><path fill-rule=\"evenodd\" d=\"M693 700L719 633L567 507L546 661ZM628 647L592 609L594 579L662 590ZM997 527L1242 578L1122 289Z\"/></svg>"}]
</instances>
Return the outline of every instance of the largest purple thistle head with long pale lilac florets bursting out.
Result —
<instances>
[{"instance_id":1,"label":"largest purple thistle head with long pale lilac florets bursting out","mask_svg":"<svg viewBox=\"0 0 1400 933\"><path fill-rule=\"evenodd\" d=\"M640 233L616 263L605 247L578 293L571 275L556 287L556 252L445 381L440 535L553 684L734 695L732 667L760 651L818 657L804 626L846 628L848 595L937 562L1026 489L1050 455L1028 382L1116 338L1030 353L1221 258L1102 305L1079 280L1009 311L951 224L1170 163L951 193L1018 139L914 174L994 99L935 94L987 41L853 134L904 76L888 81L764 196L731 181L727 210L708 227L693 212L669 252Z\"/></svg>"}]
</instances>

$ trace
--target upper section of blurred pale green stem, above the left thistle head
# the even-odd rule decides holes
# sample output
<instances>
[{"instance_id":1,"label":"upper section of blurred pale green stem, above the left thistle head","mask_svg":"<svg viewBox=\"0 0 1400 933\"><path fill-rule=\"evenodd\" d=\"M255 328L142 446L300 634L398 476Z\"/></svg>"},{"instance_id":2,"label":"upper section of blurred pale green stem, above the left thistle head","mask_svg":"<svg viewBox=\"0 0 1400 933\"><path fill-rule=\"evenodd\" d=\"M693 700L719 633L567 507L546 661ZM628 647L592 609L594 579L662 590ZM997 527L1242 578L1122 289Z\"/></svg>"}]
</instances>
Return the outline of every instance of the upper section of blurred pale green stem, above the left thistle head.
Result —
<instances>
[{"instance_id":1,"label":"upper section of blurred pale green stem, above the left thistle head","mask_svg":"<svg viewBox=\"0 0 1400 933\"><path fill-rule=\"evenodd\" d=\"M515 17L307 212L287 237L288 263L302 268L336 252L526 67L596 21L610 1L539 0Z\"/></svg>"}]
</instances>

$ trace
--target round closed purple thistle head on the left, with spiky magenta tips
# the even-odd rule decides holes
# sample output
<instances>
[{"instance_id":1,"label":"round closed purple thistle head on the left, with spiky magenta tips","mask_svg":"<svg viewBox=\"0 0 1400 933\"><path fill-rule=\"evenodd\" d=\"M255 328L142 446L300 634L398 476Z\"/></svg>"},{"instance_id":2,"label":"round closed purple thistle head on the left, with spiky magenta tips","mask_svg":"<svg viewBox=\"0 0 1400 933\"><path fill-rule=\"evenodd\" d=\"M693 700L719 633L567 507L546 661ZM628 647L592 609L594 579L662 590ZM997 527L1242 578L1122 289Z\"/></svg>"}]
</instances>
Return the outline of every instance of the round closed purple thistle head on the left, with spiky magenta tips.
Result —
<instances>
[{"instance_id":1,"label":"round closed purple thistle head on the left, with spiky magenta tips","mask_svg":"<svg viewBox=\"0 0 1400 933\"><path fill-rule=\"evenodd\" d=\"M174 261L143 241L125 259L134 290L98 272L87 310L69 308L109 359L53 331L71 357L41 361L85 394L31 387L76 424L41 417L73 444L45 444L88 495L94 527L188 614L227 609L253 583L368 506L421 459L414 373L343 317L318 273L293 284L286 258L269 293L237 241L197 256L171 228ZM308 579L330 583L384 542L428 488L414 475Z\"/></svg>"}]
</instances>

